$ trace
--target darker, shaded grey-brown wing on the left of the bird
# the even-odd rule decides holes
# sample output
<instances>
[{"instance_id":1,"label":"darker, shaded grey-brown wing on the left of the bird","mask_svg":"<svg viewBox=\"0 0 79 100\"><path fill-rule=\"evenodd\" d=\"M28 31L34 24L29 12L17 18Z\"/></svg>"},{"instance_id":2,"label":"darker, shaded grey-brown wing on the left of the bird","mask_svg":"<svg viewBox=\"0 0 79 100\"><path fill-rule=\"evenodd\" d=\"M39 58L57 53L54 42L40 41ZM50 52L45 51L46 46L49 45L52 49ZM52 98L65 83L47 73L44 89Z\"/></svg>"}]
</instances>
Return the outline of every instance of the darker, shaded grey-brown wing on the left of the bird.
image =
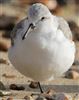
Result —
<instances>
[{"instance_id":1,"label":"darker, shaded grey-brown wing on the left of the bird","mask_svg":"<svg viewBox=\"0 0 79 100\"><path fill-rule=\"evenodd\" d=\"M27 20L27 18L21 20L13 28L13 30L11 32L11 45L12 46L14 45L14 39L16 38L17 34L19 34L19 32L24 29L24 22L25 22L25 20Z\"/></svg>"}]
</instances>

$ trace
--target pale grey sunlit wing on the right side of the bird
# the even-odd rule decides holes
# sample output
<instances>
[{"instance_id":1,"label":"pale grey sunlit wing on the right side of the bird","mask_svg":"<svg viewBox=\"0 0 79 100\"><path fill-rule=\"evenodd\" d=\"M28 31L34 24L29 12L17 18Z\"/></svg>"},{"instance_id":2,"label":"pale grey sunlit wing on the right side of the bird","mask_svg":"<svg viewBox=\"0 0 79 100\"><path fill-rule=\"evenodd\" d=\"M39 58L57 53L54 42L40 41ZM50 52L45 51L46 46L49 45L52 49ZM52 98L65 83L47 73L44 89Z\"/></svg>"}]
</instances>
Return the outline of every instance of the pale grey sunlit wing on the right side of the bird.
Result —
<instances>
[{"instance_id":1,"label":"pale grey sunlit wing on the right side of the bird","mask_svg":"<svg viewBox=\"0 0 79 100\"><path fill-rule=\"evenodd\" d=\"M72 40L73 39L72 32L69 28L68 23L65 21L65 19L62 17L58 17L58 23L59 23L58 28L63 31L63 34L65 35L65 37Z\"/></svg>"}]
</instances>

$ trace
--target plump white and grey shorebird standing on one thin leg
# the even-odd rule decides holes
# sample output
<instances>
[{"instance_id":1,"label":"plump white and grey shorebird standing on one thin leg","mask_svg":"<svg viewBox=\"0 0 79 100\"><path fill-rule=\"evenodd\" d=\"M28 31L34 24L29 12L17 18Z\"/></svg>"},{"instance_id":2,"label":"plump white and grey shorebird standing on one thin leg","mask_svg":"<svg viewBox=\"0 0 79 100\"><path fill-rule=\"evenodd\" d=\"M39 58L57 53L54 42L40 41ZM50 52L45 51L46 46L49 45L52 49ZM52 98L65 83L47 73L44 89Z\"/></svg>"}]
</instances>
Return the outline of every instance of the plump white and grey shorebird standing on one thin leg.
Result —
<instances>
[{"instance_id":1,"label":"plump white and grey shorebird standing on one thin leg","mask_svg":"<svg viewBox=\"0 0 79 100\"><path fill-rule=\"evenodd\" d=\"M14 27L8 57L20 73L40 83L68 71L75 51L67 21L53 15L44 4L35 3Z\"/></svg>"}]
</instances>

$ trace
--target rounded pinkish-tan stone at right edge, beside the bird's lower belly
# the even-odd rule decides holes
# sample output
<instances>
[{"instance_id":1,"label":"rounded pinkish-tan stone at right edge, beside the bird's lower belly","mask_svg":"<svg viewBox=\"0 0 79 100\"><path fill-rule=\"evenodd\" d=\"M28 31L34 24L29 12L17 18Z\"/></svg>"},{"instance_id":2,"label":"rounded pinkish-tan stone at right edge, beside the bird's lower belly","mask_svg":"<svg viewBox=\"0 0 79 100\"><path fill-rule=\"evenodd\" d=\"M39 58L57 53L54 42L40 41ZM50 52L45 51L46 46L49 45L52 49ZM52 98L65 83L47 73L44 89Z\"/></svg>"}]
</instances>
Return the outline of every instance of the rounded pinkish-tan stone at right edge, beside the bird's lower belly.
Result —
<instances>
[{"instance_id":1,"label":"rounded pinkish-tan stone at right edge, beside the bird's lower belly","mask_svg":"<svg viewBox=\"0 0 79 100\"><path fill-rule=\"evenodd\" d=\"M69 79L79 79L79 73L73 70L70 70L66 73L65 78Z\"/></svg>"}]
</instances>

